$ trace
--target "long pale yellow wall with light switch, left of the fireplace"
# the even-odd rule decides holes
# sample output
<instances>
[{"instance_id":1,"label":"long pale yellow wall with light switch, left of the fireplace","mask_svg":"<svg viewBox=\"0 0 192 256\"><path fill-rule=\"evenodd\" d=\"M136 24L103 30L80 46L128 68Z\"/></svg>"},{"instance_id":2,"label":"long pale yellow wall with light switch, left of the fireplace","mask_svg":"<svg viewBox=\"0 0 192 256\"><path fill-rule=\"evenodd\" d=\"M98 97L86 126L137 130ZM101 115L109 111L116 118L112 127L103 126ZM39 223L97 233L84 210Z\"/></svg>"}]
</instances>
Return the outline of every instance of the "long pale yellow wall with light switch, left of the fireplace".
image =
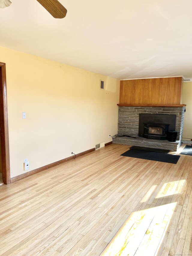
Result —
<instances>
[{"instance_id":1,"label":"long pale yellow wall with light switch, left of the fireplace","mask_svg":"<svg viewBox=\"0 0 192 256\"><path fill-rule=\"evenodd\" d=\"M11 177L26 172L25 158L34 170L117 133L119 80L3 47L0 62L6 63Z\"/></svg>"}]
</instances>

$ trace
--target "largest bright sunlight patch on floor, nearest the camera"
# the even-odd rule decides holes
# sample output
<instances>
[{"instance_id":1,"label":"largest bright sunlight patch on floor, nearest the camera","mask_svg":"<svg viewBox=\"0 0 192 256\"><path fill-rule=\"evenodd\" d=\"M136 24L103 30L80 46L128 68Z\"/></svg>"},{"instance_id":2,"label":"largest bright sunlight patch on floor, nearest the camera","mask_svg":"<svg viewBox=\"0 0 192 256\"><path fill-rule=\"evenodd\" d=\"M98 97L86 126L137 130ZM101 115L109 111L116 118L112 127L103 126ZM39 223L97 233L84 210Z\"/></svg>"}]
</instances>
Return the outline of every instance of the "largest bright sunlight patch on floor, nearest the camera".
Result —
<instances>
[{"instance_id":1,"label":"largest bright sunlight patch on floor, nearest the camera","mask_svg":"<svg viewBox=\"0 0 192 256\"><path fill-rule=\"evenodd\" d=\"M103 256L154 255L166 233L177 202L133 212L114 236Z\"/></svg>"}]
</instances>

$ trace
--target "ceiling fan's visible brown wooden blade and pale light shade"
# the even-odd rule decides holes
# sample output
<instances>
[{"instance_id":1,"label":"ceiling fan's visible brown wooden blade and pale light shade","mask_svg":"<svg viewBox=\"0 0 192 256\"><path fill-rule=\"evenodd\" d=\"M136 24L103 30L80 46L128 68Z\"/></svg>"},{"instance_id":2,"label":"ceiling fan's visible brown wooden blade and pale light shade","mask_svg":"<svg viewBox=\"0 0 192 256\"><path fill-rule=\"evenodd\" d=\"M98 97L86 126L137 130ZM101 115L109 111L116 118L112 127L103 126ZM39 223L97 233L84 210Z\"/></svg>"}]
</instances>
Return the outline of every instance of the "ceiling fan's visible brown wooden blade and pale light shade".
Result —
<instances>
[{"instance_id":1,"label":"ceiling fan's visible brown wooden blade and pale light shade","mask_svg":"<svg viewBox=\"0 0 192 256\"><path fill-rule=\"evenodd\" d=\"M54 18L62 19L67 14L67 9L58 0L37 0ZM10 0L0 0L0 8L11 4Z\"/></svg>"}]
</instances>

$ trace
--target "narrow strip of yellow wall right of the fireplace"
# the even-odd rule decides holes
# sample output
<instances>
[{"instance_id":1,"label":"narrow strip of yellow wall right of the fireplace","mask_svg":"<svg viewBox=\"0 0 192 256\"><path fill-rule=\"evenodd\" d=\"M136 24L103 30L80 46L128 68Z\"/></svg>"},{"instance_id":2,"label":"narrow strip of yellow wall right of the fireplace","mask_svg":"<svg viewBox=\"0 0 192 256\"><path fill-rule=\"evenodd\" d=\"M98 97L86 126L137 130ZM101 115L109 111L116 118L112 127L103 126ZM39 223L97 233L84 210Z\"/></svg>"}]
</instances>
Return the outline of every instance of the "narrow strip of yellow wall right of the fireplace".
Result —
<instances>
[{"instance_id":1,"label":"narrow strip of yellow wall right of the fireplace","mask_svg":"<svg viewBox=\"0 0 192 256\"><path fill-rule=\"evenodd\" d=\"M187 104L184 114L183 138L192 139L192 82L183 83L182 104Z\"/></svg>"}]
</instances>

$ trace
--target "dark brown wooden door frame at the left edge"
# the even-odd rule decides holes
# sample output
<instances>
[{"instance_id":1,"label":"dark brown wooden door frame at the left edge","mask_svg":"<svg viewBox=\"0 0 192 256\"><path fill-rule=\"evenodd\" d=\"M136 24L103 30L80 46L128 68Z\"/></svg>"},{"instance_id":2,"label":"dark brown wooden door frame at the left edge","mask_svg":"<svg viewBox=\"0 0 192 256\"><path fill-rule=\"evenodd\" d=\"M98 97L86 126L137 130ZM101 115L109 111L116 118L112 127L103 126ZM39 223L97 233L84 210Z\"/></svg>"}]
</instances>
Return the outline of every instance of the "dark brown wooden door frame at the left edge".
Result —
<instances>
[{"instance_id":1,"label":"dark brown wooden door frame at the left edge","mask_svg":"<svg viewBox=\"0 0 192 256\"><path fill-rule=\"evenodd\" d=\"M1 136L1 162L4 184L10 184L10 157L9 157L9 131L7 114L7 87L5 63L0 62L0 136Z\"/></svg>"}]
</instances>

